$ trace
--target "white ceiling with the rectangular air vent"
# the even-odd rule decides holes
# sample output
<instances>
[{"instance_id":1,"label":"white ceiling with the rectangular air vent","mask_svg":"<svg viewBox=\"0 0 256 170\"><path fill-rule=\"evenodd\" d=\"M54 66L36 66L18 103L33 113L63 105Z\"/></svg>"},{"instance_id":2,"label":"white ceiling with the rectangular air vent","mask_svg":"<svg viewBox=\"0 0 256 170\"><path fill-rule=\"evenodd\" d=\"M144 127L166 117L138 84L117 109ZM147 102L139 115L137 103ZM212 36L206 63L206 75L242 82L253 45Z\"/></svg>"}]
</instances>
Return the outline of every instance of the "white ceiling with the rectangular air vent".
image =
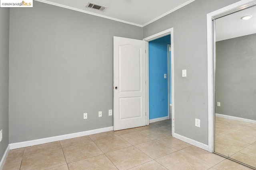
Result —
<instances>
[{"instance_id":1,"label":"white ceiling with the rectangular air vent","mask_svg":"<svg viewBox=\"0 0 256 170\"><path fill-rule=\"evenodd\" d=\"M143 27L193 2L194 0L36 0L47 4L101 16ZM88 2L108 7L98 11L85 6Z\"/></svg>"}]
</instances>

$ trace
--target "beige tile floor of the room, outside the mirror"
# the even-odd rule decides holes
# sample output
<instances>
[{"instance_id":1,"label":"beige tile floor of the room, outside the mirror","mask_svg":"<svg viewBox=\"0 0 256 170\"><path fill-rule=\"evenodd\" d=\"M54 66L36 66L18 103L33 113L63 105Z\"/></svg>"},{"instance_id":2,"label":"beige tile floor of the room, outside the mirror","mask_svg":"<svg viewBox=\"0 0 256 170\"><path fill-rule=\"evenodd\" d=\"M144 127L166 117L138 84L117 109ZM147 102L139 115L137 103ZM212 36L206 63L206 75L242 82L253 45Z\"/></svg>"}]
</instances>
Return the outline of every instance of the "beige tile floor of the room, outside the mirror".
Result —
<instances>
[{"instance_id":1,"label":"beige tile floor of the room, outside the mirror","mask_svg":"<svg viewBox=\"0 0 256 170\"><path fill-rule=\"evenodd\" d=\"M4 170L250 169L171 136L170 120L10 150Z\"/></svg>"}]
</instances>

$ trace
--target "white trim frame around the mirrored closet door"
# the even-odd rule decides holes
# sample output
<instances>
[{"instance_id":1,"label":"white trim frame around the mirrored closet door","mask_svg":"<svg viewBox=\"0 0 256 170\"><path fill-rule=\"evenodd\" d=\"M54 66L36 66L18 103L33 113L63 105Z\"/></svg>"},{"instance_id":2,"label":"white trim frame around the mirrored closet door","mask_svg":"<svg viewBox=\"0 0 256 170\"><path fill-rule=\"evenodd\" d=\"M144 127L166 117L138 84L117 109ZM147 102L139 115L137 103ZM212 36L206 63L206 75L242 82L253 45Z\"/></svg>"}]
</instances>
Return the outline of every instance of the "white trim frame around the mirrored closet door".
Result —
<instances>
[{"instance_id":1,"label":"white trim frame around the mirrored closet door","mask_svg":"<svg viewBox=\"0 0 256 170\"><path fill-rule=\"evenodd\" d=\"M214 55L215 37L213 20L255 5L256 0L241 0L207 14L207 56L208 56L208 151L214 152Z\"/></svg>"}]
</instances>

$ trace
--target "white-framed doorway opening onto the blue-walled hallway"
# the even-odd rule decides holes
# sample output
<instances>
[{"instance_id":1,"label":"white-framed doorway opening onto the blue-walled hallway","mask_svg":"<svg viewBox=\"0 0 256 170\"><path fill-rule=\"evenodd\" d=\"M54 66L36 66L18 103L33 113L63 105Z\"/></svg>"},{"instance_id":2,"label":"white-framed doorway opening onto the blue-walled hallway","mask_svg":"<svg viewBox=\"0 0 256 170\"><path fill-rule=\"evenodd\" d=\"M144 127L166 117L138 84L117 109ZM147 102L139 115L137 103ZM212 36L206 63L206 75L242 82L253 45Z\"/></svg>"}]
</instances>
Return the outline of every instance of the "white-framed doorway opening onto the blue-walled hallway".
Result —
<instances>
[{"instance_id":1,"label":"white-framed doorway opening onto the blue-walled hallway","mask_svg":"<svg viewBox=\"0 0 256 170\"><path fill-rule=\"evenodd\" d=\"M171 119L174 133L174 55L173 28L150 37L146 41L146 124ZM152 52L153 51L153 52ZM162 51L162 52L161 52ZM155 54L154 54L155 53ZM164 53L165 55L161 55ZM153 54L153 55L152 55ZM171 104L171 105L170 105ZM171 107L170 107L171 106Z\"/></svg>"}]
</instances>

